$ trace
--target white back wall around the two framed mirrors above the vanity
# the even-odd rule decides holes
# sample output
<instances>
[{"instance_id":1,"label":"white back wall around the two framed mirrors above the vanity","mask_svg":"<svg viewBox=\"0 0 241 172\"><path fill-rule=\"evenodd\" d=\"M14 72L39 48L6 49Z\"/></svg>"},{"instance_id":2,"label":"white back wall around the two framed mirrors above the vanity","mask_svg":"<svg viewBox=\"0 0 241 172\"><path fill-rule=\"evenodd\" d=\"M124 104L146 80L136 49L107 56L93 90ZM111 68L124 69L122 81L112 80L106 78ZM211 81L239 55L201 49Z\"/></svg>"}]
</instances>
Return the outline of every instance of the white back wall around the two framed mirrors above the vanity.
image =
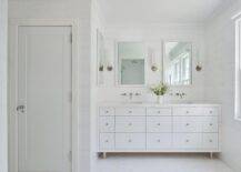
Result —
<instances>
[{"instance_id":1,"label":"white back wall around the two framed mirrors above the vanity","mask_svg":"<svg viewBox=\"0 0 241 172\"><path fill-rule=\"evenodd\" d=\"M104 84L98 88L98 101L120 101L125 98L120 94L123 92L141 92L144 101L155 101L149 87L153 83L159 83L162 80L161 74L161 61L162 61L162 43L163 41L191 41L193 45L193 65L192 65L192 85L191 87L173 87L172 92L182 91L187 93L184 100L187 101L201 101L203 100L203 71L197 72L197 50L199 51L200 61L203 61L204 44L203 44L203 27L194 24L149 24L149 26L104 26L104 44L110 63L114 67L112 72L104 71L103 82ZM148 64L147 87L144 88L121 88L117 85L116 80L116 54L114 45L116 41L143 41L147 47L154 49L155 59L159 65L157 72L152 72L150 63ZM150 59L148 59L150 62ZM177 97L167 97L165 100L177 100Z\"/></svg>"}]
</instances>

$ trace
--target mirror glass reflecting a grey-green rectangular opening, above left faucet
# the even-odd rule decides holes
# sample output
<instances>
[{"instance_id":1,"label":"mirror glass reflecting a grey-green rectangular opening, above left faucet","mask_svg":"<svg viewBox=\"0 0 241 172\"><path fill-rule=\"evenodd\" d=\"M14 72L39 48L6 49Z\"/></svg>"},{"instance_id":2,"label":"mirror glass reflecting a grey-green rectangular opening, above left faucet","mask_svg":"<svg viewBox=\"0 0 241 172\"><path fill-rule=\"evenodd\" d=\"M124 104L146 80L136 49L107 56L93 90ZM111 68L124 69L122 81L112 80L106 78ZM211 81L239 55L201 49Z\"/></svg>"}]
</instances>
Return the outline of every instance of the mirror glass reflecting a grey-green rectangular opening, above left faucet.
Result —
<instances>
[{"instance_id":1,"label":"mirror glass reflecting a grey-green rectangular opening, above left faucet","mask_svg":"<svg viewBox=\"0 0 241 172\"><path fill-rule=\"evenodd\" d=\"M141 42L118 42L118 82L121 85L145 83L145 50Z\"/></svg>"}]
</instances>

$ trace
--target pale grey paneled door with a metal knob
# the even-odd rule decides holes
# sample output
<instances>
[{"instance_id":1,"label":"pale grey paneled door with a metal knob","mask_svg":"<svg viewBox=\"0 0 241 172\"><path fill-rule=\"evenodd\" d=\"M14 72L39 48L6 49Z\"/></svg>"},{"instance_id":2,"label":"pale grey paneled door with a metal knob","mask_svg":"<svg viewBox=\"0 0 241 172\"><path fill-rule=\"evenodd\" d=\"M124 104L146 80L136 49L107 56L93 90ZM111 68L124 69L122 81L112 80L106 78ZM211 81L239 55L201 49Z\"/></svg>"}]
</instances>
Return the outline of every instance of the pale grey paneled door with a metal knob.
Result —
<instances>
[{"instance_id":1,"label":"pale grey paneled door with a metal knob","mask_svg":"<svg viewBox=\"0 0 241 172\"><path fill-rule=\"evenodd\" d=\"M71 172L71 27L20 27L19 172Z\"/></svg>"}]
</instances>

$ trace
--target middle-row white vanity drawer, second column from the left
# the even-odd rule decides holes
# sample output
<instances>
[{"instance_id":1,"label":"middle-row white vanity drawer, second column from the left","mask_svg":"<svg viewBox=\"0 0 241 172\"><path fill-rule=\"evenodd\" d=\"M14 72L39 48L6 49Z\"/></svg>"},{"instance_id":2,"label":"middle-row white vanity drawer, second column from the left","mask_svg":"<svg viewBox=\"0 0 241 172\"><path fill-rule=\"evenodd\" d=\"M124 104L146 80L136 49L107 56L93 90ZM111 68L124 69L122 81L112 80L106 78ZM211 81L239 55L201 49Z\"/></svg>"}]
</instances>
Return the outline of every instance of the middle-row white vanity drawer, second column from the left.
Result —
<instances>
[{"instance_id":1,"label":"middle-row white vanity drawer, second column from the left","mask_svg":"<svg viewBox=\"0 0 241 172\"><path fill-rule=\"evenodd\" d=\"M145 117L116 117L116 132L145 132Z\"/></svg>"}]
</instances>

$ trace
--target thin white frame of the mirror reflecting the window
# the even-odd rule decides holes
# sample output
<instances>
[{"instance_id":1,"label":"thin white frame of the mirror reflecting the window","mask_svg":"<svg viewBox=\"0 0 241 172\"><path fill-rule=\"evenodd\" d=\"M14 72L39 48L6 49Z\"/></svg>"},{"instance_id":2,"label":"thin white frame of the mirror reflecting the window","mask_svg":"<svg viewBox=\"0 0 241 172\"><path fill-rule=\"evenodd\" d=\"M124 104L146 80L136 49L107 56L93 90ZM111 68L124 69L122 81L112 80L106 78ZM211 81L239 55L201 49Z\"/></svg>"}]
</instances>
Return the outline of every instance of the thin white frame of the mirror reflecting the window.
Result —
<instances>
[{"instance_id":1,"label":"thin white frame of the mirror reflecting the window","mask_svg":"<svg viewBox=\"0 0 241 172\"><path fill-rule=\"evenodd\" d=\"M169 87L178 87L178 88L187 88L187 87L192 87L193 85L193 41L190 41L190 40L164 40L162 41L162 81L164 82L164 58L165 58L165 43L168 42L185 42L185 43L190 43L191 44L191 60L190 60L190 78L191 78L191 81L190 81L190 84L168 84Z\"/></svg>"}]
</instances>

